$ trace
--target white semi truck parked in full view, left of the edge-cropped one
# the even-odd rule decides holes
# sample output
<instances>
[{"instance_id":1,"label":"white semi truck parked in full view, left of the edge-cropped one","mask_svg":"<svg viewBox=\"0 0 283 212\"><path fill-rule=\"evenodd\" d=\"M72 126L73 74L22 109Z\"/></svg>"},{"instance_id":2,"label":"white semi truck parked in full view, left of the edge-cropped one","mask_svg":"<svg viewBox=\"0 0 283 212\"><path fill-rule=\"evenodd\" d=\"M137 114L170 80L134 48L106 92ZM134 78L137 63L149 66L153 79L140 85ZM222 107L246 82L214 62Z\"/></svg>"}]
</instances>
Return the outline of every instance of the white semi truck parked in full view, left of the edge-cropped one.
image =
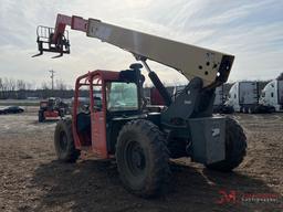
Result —
<instances>
[{"instance_id":1,"label":"white semi truck parked in full view, left of the edge-cropped one","mask_svg":"<svg viewBox=\"0 0 283 212\"><path fill-rule=\"evenodd\" d=\"M240 113L271 113L274 107L259 103L259 83L258 82L237 82L229 92L227 104L232 106L234 112Z\"/></svg>"}]
</instances>

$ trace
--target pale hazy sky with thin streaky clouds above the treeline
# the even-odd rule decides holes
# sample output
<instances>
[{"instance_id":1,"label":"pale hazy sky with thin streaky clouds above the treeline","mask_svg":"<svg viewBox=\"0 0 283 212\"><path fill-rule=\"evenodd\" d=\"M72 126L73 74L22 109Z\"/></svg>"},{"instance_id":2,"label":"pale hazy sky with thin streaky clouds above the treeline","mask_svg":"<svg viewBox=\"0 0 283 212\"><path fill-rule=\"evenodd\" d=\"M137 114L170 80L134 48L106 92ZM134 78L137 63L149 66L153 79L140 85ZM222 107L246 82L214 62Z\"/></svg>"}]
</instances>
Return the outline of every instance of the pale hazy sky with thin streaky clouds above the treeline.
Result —
<instances>
[{"instance_id":1,"label":"pale hazy sky with thin streaky clouds above the treeline","mask_svg":"<svg viewBox=\"0 0 283 212\"><path fill-rule=\"evenodd\" d=\"M41 85L55 77L73 85L76 76L96 68L127 68L133 56L82 32L70 32L71 54L52 60L36 53L36 25L54 26L57 13L136 29L235 55L229 77L272 80L283 72L283 1L228 0L0 0L0 77ZM177 72L153 64L167 83Z\"/></svg>"}]
</instances>

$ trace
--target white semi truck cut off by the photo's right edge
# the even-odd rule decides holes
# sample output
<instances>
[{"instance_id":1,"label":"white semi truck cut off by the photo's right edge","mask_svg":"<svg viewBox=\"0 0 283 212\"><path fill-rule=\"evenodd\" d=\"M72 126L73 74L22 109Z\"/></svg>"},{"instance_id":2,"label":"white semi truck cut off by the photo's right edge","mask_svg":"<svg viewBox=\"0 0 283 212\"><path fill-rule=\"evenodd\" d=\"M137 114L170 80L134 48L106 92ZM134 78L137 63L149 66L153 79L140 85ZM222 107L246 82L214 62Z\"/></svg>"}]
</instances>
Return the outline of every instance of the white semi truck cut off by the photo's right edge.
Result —
<instances>
[{"instance_id":1,"label":"white semi truck cut off by the photo's right edge","mask_svg":"<svg viewBox=\"0 0 283 212\"><path fill-rule=\"evenodd\" d=\"M273 80L268 83L261 93L260 104L283 112L283 81Z\"/></svg>"}]
</instances>

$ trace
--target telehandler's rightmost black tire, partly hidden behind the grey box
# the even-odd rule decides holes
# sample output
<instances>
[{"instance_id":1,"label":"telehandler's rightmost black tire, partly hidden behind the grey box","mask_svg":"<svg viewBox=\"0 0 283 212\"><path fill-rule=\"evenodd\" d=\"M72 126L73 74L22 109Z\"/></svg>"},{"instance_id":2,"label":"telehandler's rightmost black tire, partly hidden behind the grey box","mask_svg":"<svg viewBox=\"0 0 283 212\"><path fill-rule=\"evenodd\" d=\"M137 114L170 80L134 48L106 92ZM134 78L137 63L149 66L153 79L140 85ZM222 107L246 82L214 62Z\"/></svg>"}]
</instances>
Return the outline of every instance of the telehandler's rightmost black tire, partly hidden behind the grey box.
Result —
<instances>
[{"instance_id":1,"label":"telehandler's rightmost black tire, partly hidden behind the grey box","mask_svg":"<svg viewBox=\"0 0 283 212\"><path fill-rule=\"evenodd\" d=\"M237 168L245 156L247 138L242 127L232 118L226 121L226 159L206 165L208 169L228 172Z\"/></svg>"}]
</instances>

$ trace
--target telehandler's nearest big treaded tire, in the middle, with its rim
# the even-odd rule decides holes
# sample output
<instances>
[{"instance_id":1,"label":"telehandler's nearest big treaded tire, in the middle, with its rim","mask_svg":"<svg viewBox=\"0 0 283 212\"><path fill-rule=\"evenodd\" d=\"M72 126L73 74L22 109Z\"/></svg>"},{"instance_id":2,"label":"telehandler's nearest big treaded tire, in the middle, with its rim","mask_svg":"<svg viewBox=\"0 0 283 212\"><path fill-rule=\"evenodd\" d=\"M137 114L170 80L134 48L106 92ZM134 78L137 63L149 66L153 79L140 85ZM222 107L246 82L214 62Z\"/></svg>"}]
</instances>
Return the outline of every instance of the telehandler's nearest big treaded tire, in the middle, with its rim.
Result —
<instances>
[{"instance_id":1,"label":"telehandler's nearest big treaded tire, in the middle, with its rim","mask_svg":"<svg viewBox=\"0 0 283 212\"><path fill-rule=\"evenodd\" d=\"M116 160L120 180L129 192L149 198L166 191L169 151L164 135L151 121L132 120L122 128Z\"/></svg>"}]
</instances>

